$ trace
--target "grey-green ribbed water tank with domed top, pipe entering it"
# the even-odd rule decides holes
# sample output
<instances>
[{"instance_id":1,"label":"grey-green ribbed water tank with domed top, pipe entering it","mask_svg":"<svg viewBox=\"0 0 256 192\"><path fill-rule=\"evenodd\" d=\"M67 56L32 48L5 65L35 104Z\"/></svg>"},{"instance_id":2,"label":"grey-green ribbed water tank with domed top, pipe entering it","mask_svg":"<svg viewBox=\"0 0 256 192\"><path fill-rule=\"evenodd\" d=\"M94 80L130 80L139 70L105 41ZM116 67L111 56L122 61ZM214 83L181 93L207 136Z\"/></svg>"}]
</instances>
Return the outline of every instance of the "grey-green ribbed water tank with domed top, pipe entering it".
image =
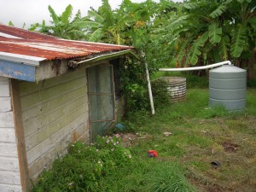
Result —
<instances>
[{"instance_id":1,"label":"grey-green ribbed water tank with domed top, pipe entering it","mask_svg":"<svg viewBox=\"0 0 256 192\"><path fill-rule=\"evenodd\" d=\"M233 65L210 70L209 107L222 105L230 111L246 108L247 71Z\"/></svg>"}]
</instances>

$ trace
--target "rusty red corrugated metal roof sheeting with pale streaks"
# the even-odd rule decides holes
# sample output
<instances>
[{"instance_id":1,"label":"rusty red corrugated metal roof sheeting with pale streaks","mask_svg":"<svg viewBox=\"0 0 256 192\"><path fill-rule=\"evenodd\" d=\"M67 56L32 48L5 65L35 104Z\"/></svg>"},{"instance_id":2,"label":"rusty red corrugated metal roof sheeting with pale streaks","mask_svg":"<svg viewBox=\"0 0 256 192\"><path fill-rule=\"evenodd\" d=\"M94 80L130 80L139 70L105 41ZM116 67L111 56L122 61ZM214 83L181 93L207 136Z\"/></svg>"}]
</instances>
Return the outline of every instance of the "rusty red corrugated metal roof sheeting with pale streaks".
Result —
<instances>
[{"instance_id":1,"label":"rusty red corrugated metal roof sheeting with pale streaks","mask_svg":"<svg viewBox=\"0 0 256 192\"><path fill-rule=\"evenodd\" d=\"M97 55L125 49L133 48L115 44L66 40L0 24L0 52L54 60Z\"/></svg>"}]
</instances>

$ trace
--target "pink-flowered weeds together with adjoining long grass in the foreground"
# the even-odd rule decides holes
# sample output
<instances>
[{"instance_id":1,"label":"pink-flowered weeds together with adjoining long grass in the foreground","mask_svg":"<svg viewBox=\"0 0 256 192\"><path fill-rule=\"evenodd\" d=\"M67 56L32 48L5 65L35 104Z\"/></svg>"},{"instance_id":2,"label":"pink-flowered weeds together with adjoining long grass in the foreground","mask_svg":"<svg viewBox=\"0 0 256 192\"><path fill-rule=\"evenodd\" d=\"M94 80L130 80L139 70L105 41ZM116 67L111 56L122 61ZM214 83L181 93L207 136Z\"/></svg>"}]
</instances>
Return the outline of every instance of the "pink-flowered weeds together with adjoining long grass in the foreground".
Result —
<instances>
[{"instance_id":1,"label":"pink-flowered weeds together with adjoining long grass in the foreground","mask_svg":"<svg viewBox=\"0 0 256 192\"><path fill-rule=\"evenodd\" d=\"M184 189L191 187L180 166L146 156L131 156L119 135L97 137L93 145L81 142L71 145L65 157L55 160L52 169L40 175L33 191L154 191L162 182L154 172L163 172L164 176L168 165L166 184L172 187L173 181L177 191L188 191Z\"/></svg>"}]
</instances>

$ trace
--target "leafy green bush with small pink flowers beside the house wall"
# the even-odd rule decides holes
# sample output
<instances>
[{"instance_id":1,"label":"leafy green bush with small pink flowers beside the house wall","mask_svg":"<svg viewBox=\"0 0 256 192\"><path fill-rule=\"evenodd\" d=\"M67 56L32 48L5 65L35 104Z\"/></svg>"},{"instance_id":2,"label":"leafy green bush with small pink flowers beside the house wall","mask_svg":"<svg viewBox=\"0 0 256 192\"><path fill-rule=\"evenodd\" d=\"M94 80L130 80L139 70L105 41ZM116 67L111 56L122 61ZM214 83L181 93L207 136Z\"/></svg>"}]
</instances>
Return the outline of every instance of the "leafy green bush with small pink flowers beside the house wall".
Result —
<instances>
[{"instance_id":1,"label":"leafy green bush with small pink flowers beside the house wall","mask_svg":"<svg viewBox=\"0 0 256 192\"><path fill-rule=\"evenodd\" d=\"M33 191L98 191L98 181L131 163L131 153L119 135L97 137L96 144L74 143L68 154L44 171Z\"/></svg>"}]
</instances>

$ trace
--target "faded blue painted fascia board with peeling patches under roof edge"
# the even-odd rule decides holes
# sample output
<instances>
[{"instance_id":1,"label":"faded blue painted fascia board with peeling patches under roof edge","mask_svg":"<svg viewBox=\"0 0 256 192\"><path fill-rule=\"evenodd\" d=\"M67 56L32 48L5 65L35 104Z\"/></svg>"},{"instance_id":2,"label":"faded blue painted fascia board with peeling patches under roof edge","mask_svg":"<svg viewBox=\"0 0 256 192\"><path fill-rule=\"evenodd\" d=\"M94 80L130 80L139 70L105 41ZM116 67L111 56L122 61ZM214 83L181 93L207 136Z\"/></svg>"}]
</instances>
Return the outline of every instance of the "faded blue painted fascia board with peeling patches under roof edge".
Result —
<instances>
[{"instance_id":1,"label":"faded blue painted fascia board with peeling patches under roof edge","mask_svg":"<svg viewBox=\"0 0 256 192\"><path fill-rule=\"evenodd\" d=\"M35 74L35 66L0 60L0 76L34 82Z\"/></svg>"}]
</instances>

